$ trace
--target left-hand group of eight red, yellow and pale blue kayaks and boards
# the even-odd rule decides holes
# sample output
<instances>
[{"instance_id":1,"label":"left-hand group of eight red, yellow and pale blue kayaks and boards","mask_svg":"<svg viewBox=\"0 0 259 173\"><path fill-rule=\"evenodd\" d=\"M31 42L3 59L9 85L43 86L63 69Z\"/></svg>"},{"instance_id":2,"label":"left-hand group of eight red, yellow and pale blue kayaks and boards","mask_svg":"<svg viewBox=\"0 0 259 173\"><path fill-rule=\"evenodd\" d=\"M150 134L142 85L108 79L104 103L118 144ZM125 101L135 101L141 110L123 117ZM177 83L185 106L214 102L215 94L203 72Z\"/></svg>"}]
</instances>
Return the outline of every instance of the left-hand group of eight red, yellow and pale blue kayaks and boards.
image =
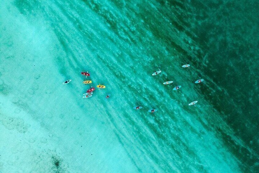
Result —
<instances>
[{"instance_id":1,"label":"left-hand group of eight red, yellow and pale blue kayaks and boards","mask_svg":"<svg viewBox=\"0 0 259 173\"><path fill-rule=\"evenodd\" d=\"M89 77L89 76L90 76L90 73L88 73L88 72L81 72L81 74L83 75L83 77L84 77L84 76L85 76L85 77ZM72 81L72 80L69 79L69 80L63 82L63 85L68 84L68 83L71 82L71 81ZM84 80L84 81L83 81L83 84L85 84L85 85L91 84L91 83L92 83L91 80ZM106 88L106 86L99 84L99 85L96 85L96 88L104 89L104 88ZM89 89L83 94L83 98L92 97L93 91L95 91L95 88L91 86L91 88L89 88ZM110 96L111 96L111 94L108 94L105 98L108 99L108 98L110 98Z\"/></svg>"}]
</instances>

